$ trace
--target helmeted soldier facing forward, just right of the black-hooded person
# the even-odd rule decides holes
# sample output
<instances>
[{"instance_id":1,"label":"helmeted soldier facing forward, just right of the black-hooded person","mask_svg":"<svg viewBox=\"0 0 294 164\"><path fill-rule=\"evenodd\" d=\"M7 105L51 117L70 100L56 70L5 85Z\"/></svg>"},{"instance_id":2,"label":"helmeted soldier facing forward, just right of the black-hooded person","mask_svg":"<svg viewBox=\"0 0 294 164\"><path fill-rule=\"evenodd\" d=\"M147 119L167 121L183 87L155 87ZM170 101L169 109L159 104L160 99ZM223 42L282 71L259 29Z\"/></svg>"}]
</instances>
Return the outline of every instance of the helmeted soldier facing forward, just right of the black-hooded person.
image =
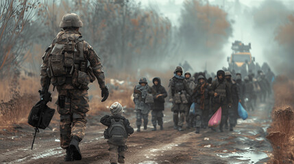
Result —
<instances>
[{"instance_id":1,"label":"helmeted soldier facing forward, just right of the black-hooded person","mask_svg":"<svg viewBox=\"0 0 294 164\"><path fill-rule=\"evenodd\" d=\"M178 131L183 131L182 126L184 125L185 112L188 107L187 94L191 95L191 91L184 80L185 77L182 76L183 68L177 66L173 73L174 76L169 81L169 101L173 102L173 107L171 107L171 111L173 111L173 128Z\"/></svg>"}]
</instances>

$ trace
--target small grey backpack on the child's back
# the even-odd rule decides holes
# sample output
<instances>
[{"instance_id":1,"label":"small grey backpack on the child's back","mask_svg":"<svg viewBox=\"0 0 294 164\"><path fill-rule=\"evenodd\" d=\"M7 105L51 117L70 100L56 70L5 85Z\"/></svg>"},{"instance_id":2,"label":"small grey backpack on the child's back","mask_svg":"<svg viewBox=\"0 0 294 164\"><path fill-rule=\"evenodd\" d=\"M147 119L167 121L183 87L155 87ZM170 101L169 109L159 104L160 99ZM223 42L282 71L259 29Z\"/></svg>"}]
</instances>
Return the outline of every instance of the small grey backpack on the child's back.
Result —
<instances>
[{"instance_id":1,"label":"small grey backpack on the child's back","mask_svg":"<svg viewBox=\"0 0 294 164\"><path fill-rule=\"evenodd\" d=\"M111 119L111 125L108 128L108 136L113 143L119 146L125 145L127 131L125 131L125 125L122 119L120 119L119 122L116 122L114 118Z\"/></svg>"}]
</instances>

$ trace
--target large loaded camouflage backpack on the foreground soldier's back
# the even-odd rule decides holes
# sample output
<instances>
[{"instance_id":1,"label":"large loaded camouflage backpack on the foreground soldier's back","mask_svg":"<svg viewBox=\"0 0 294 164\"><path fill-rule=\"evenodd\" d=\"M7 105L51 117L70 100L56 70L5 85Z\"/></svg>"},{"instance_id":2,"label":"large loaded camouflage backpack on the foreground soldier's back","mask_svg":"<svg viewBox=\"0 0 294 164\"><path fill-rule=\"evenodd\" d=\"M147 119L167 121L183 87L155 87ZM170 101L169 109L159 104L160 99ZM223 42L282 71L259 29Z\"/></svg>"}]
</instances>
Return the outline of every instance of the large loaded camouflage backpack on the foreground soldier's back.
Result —
<instances>
[{"instance_id":1,"label":"large loaded camouflage backpack on the foreground soldier's back","mask_svg":"<svg viewBox=\"0 0 294 164\"><path fill-rule=\"evenodd\" d=\"M90 83L90 77L86 74L88 61L84 57L82 41L82 36L73 33L63 33L57 39L49 54L47 69L54 86L73 83L82 87Z\"/></svg>"}]
</instances>

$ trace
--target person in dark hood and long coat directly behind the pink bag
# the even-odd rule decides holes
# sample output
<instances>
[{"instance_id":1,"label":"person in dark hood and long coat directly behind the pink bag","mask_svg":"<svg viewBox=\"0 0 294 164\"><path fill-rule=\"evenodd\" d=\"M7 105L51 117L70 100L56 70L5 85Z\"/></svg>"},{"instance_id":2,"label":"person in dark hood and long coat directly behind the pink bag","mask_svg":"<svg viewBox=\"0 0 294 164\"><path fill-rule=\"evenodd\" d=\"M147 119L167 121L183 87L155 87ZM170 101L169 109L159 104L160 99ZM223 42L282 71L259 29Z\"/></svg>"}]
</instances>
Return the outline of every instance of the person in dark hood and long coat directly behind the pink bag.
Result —
<instances>
[{"instance_id":1,"label":"person in dark hood and long coat directly behind the pink bag","mask_svg":"<svg viewBox=\"0 0 294 164\"><path fill-rule=\"evenodd\" d=\"M228 110L232 107L232 95L230 85L225 82L225 72L217 71L217 81L214 81L210 87L210 96L212 96L212 111L215 113L221 107L221 124L219 130L223 132L223 124L227 120Z\"/></svg>"}]
</instances>

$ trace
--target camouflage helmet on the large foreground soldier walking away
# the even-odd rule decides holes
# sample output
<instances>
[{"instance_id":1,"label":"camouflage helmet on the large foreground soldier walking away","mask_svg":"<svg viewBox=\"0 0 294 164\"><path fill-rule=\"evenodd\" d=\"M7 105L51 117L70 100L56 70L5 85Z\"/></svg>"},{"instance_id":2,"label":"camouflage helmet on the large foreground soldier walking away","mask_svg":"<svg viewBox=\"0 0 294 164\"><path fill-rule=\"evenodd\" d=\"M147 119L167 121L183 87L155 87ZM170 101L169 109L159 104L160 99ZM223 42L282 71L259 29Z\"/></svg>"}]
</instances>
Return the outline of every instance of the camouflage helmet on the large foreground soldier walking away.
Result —
<instances>
[{"instance_id":1,"label":"camouflage helmet on the large foreground soldier walking away","mask_svg":"<svg viewBox=\"0 0 294 164\"><path fill-rule=\"evenodd\" d=\"M83 27L83 23L77 14L67 13L62 17L59 27Z\"/></svg>"}]
</instances>

